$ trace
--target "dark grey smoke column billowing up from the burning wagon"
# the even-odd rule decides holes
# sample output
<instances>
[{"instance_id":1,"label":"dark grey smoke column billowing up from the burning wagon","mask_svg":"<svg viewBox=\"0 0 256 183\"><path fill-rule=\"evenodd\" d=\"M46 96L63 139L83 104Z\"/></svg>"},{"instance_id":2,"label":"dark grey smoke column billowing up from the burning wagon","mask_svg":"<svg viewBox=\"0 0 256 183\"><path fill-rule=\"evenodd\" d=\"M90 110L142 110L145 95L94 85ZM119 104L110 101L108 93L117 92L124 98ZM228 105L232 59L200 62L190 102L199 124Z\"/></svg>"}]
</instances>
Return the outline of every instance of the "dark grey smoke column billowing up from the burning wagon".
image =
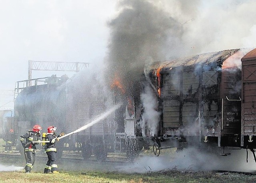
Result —
<instances>
[{"instance_id":1,"label":"dark grey smoke column billowing up from the burning wagon","mask_svg":"<svg viewBox=\"0 0 256 183\"><path fill-rule=\"evenodd\" d=\"M182 24L158 7L160 0L122 0L120 13L108 22L106 75L118 76L129 89L152 61L177 56L181 50Z\"/></svg>"}]
</instances>

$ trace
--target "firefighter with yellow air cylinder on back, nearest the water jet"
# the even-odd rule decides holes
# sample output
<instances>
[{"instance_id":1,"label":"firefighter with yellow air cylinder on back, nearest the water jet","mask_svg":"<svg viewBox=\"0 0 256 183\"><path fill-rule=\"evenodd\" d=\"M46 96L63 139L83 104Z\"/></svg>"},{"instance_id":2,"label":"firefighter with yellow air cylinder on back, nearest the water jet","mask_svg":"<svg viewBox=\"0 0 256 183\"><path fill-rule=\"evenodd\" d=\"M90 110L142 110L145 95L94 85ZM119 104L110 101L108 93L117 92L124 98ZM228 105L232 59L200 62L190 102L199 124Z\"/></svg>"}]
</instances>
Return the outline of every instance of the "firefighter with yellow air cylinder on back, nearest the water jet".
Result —
<instances>
[{"instance_id":1,"label":"firefighter with yellow air cylinder on back, nearest the water jet","mask_svg":"<svg viewBox=\"0 0 256 183\"><path fill-rule=\"evenodd\" d=\"M54 126L49 126L47 128L46 141L50 142L46 143L46 146L44 147L48 157L48 161L44 168L44 173L59 173L56 158L57 149L55 143L59 141L58 137L65 135L65 133L60 133L60 135L57 136L55 133L56 129L57 127Z\"/></svg>"}]
</instances>

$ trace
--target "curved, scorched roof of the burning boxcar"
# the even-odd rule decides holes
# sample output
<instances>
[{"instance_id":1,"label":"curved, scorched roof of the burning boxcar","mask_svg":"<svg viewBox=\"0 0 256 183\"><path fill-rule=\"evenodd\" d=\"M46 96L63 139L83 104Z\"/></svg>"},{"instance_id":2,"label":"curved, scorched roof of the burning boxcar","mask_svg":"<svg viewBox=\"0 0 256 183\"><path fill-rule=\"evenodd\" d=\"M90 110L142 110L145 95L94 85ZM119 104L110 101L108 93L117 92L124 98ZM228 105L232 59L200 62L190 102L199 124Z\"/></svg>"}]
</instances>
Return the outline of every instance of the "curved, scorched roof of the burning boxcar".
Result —
<instances>
[{"instance_id":1,"label":"curved, scorched roof of the burning boxcar","mask_svg":"<svg viewBox=\"0 0 256 183\"><path fill-rule=\"evenodd\" d=\"M234 50L223 50L219 52L211 52L206 54L187 56L183 58L178 58L175 60L166 60L164 62L157 62L152 66L152 69L156 68L172 68L178 66L192 66L196 64L210 64L210 63L219 63L222 64L228 57L232 56L240 49Z\"/></svg>"}]
</instances>

